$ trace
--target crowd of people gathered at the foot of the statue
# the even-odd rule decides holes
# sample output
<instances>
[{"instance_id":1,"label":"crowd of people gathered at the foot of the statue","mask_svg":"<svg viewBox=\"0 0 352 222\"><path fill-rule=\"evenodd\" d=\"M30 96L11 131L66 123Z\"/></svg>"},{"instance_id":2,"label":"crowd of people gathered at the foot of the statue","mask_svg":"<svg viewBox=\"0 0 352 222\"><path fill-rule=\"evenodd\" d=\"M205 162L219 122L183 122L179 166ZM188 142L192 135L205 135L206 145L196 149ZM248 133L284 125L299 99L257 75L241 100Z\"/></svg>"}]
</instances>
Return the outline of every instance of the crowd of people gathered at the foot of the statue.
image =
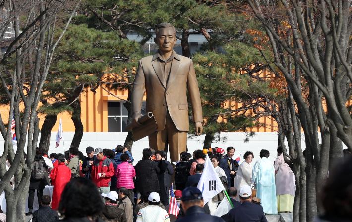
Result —
<instances>
[{"instance_id":1,"label":"crowd of people gathered at the foot of the statue","mask_svg":"<svg viewBox=\"0 0 352 222\"><path fill-rule=\"evenodd\" d=\"M131 153L121 145L113 150L87 147L87 157L78 148L71 147L65 154L50 154L50 162L43 150L37 148L28 214L33 215L33 222L57 221L59 214L61 219L64 217L63 221L70 222L168 222L176 219L180 222L266 222L265 215L292 212L295 178L285 163L283 148L277 148L275 162L268 159L270 153L263 149L255 164L251 164L253 152L247 151L239 165L233 159L234 153L233 147L226 151L223 148L195 150L193 158L190 153L182 152L179 162L173 166L166 160L164 151L145 148L142 160L133 166ZM206 156L233 206L221 217L213 215L221 207L220 202L227 198L225 192L204 204L202 192L197 188ZM173 180L173 197L180 207L177 215L169 211ZM52 197L43 195L46 185L54 186ZM33 212L35 191L40 209ZM349 210L346 212L351 214Z\"/></svg>"}]
</instances>

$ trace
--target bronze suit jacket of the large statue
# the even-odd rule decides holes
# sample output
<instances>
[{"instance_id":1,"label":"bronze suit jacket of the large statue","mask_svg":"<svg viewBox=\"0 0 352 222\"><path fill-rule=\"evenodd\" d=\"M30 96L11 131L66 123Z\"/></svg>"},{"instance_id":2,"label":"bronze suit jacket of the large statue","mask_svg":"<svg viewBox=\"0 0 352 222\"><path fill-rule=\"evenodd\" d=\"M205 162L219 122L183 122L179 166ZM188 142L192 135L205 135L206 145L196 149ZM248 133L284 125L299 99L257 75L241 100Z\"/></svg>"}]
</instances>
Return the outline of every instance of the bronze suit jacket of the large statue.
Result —
<instances>
[{"instance_id":1,"label":"bronze suit jacket of the large statue","mask_svg":"<svg viewBox=\"0 0 352 222\"><path fill-rule=\"evenodd\" d=\"M169 81L166 83L158 56L144 57L139 60L133 82L132 112L141 111L144 90L146 90L146 112L152 112L155 116L157 131L165 128L167 109L176 128L179 131L188 131L187 89L193 121L203 122L198 82L192 60L174 52Z\"/></svg>"}]
</instances>

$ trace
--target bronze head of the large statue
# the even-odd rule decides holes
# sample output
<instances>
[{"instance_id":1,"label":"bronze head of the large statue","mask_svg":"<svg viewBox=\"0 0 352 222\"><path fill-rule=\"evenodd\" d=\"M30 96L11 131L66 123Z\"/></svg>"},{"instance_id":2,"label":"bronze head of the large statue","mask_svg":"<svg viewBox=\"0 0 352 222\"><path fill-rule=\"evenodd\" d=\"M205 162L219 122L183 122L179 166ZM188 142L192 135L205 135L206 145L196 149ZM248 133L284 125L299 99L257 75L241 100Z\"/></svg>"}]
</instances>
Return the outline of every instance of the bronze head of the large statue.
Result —
<instances>
[{"instance_id":1,"label":"bronze head of the large statue","mask_svg":"<svg viewBox=\"0 0 352 222\"><path fill-rule=\"evenodd\" d=\"M155 44L159 46L159 51L167 53L173 50L176 43L176 29L170 23L160 23L156 29Z\"/></svg>"}]
</instances>

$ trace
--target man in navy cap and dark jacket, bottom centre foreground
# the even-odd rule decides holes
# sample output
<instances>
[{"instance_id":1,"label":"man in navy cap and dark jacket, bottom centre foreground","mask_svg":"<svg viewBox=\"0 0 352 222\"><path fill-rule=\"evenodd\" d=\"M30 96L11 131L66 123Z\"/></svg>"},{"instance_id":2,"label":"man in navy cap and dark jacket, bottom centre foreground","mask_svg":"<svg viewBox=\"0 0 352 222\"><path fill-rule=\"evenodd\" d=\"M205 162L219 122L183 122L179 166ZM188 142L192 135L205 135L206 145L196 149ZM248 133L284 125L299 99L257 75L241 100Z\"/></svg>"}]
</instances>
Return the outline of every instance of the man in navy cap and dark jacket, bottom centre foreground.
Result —
<instances>
[{"instance_id":1,"label":"man in navy cap and dark jacket, bottom centre foreground","mask_svg":"<svg viewBox=\"0 0 352 222\"><path fill-rule=\"evenodd\" d=\"M196 187L187 187L183 190L181 205L186 216L177 222L225 222L222 218L204 212L202 192Z\"/></svg>"}]
</instances>

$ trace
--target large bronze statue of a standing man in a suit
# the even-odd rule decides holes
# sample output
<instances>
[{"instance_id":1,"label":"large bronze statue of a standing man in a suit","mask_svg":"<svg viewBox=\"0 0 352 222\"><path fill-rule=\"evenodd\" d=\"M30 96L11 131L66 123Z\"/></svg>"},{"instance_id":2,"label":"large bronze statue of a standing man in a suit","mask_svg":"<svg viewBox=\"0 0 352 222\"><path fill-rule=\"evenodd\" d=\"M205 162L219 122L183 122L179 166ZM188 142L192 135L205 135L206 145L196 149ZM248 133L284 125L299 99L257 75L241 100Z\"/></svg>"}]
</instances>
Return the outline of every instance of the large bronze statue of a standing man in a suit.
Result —
<instances>
[{"instance_id":1,"label":"large bronze statue of a standing man in a suit","mask_svg":"<svg viewBox=\"0 0 352 222\"><path fill-rule=\"evenodd\" d=\"M154 42L159 50L153 56L139 60L133 82L132 122L138 123L144 91L147 91L146 112L152 112L157 122L157 131L150 134L149 146L154 150L170 149L172 162L186 150L188 102L191 102L196 135L203 130L202 106L198 82L191 59L177 55L173 50L176 29L170 23L161 23L156 28Z\"/></svg>"}]
</instances>

